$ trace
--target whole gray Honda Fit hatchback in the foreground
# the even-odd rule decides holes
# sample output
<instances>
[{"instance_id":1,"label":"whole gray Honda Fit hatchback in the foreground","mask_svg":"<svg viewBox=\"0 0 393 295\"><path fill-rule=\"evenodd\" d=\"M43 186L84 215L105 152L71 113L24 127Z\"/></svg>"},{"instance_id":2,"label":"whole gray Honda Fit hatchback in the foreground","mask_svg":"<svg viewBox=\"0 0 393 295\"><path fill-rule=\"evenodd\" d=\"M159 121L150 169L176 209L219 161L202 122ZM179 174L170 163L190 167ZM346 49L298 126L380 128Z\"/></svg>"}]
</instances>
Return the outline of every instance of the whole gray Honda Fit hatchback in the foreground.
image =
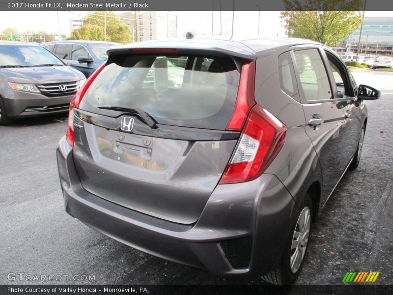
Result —
<instances>
[{"instance_id":1,"label":"whole gray Honda Fit hatchback in the foreground","mask_svg":"<svg viewBox=\"0 0 393 295\"><path fill-rule=\"evenodd\" d=\"M108 56L57 147L66 211L152 255L292 283L311 223L359 164L379 91L301 39L148 41Z\"/></svg>"}]
</instances>

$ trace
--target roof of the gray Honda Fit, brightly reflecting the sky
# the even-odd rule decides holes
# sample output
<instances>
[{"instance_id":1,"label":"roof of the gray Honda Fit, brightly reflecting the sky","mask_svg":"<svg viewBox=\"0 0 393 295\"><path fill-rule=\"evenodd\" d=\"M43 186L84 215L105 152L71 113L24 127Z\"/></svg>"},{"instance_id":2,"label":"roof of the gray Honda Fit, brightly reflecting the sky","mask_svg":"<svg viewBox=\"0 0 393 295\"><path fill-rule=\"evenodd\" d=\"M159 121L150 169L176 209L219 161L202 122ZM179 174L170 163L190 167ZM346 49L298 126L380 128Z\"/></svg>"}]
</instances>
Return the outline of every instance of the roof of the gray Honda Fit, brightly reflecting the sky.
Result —
<instances>
[{"instance_id":1,"label":"roof of the gray Honda Fit, brightly reflecting the sky","mask_svg":"<svg viewBox=\"0 0 393 295\"><path fill-rule=\"evenodd\" d=\"M260 52L273 48L289 48L301 44L322 45L320 43L298 38L247 38L247 39L212 39L212 38L176 38L151 40L120 45L110 48L107 52L124 52L129 49L177 49L218 51L243 58L255 58Z\"/></svg>"}]
</instances>

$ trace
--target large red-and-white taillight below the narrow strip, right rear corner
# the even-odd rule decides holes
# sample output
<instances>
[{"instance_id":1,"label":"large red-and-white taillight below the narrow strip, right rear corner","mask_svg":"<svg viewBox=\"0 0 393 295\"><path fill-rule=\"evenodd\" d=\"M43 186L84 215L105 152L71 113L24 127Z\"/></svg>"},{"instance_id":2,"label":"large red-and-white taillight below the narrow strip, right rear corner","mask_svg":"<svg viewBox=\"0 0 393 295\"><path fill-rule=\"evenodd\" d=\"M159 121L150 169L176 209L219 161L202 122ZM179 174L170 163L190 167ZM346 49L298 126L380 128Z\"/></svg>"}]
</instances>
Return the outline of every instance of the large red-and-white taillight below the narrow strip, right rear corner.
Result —
<instances>
[{"instance_id":1,"label":"large red-and-white taillight below the narrow strip, right rear corner","mask_svg":"<svg viewBox=\"0 0 393 295\"><path fill-rule=\"evenodd\" d=\"M220 184L250 181L259 177L280 152L285 133L286 126L278 118L255 105Z\"/></svg>"}]
</instances>

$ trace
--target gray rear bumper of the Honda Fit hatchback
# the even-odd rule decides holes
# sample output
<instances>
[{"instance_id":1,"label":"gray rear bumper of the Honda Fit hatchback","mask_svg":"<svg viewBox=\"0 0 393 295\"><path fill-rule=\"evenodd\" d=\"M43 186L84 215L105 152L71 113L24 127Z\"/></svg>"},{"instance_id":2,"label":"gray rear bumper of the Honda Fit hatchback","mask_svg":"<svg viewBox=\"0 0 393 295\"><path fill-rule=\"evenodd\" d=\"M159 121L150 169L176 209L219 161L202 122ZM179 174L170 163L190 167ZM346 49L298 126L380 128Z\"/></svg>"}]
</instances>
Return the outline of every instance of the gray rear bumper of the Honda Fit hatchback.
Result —
<instances>
[{"instance_id":1,"label":"gray rear bumper of the Honda Fit hatchback","mask_svg":"<svg viewBox=\"0 0 393 295\"><path fill-rule=\"evenodd\" d=\"M65 210L126 245L218 275L259 275L275 269L280 261L289 236L287 224L296 204L274 175L218 185L198 221L181 225L118 206L85 191L74 167L72 148L64 137L57 147L57 165ZM245 239L251 241L251 248L242 246ZM228 247L223 247L228 241L232 257ZM240 244L236 245L237 241ZM247 266L233 266L233 251L238 257L246 257Z\"/></svg>"}]
</instances>

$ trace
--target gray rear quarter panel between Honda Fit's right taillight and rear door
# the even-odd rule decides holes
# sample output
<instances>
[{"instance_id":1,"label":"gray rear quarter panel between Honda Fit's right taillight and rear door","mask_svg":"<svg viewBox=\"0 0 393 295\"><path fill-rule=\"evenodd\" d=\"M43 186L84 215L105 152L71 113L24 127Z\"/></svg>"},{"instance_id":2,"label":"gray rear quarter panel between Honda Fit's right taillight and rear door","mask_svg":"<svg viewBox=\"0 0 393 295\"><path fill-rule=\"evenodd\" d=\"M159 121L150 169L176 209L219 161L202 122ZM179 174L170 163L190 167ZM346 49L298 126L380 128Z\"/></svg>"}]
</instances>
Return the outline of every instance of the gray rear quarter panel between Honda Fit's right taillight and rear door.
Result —
<instances>
[{"instance_id":1,"label":"gray rear quarter panel between Honda Fit's right taillight and rear door","mask_svg":"<svg viewBox=\"0 0 393 295\"><path fill-rule=\"evenodd\" d=\"M265 173L276 175L300 204L311 184L322 183L322 174L317 154L305 132L303 107L281 90L278 57L283 52L279 48L258 55L255 101L287 127L285 144Z\"/></svg>"}]
</instances>

